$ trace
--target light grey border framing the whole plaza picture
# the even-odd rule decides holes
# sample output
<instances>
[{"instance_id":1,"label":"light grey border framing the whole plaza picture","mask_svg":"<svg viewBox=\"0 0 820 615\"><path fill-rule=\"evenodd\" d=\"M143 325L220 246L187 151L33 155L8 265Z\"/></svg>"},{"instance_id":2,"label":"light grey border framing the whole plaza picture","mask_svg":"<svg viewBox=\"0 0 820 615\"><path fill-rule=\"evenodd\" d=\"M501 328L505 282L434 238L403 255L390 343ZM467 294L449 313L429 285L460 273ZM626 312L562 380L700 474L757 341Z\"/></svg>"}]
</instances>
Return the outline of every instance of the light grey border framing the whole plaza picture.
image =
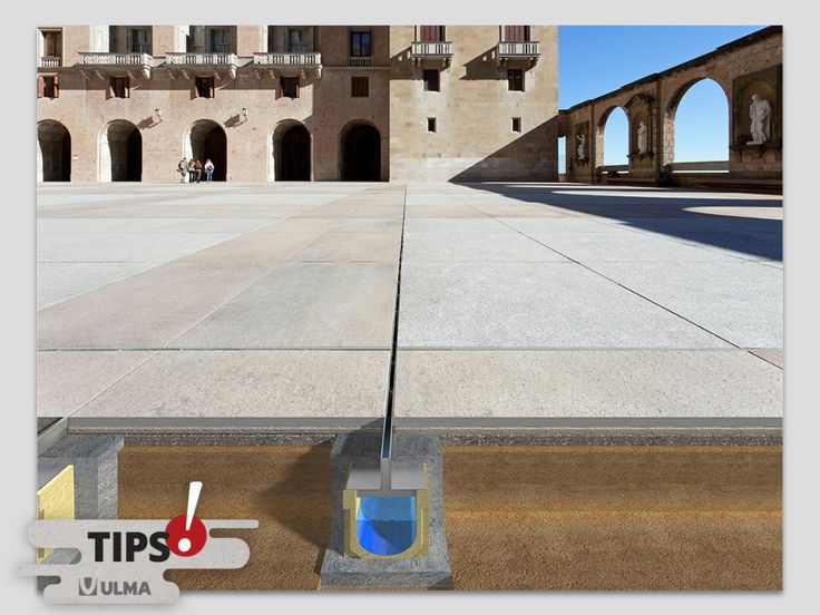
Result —
<instances>
[{"instance_id":1,"label":"light grey border framing the whole plaza picture","mask_svg":"<svg viewBox=\"0 0 820 615\"><path fill-rule=\"evenodd\" d=\"M4 198L0 226L2 263L3 350L0 363L4 396L3 482L4 506L0 510L4 528L2 598L10 612L53 613L35 593L30 579L19 577L17 567L32 555L26 528L35 518L35 28L68 23L186 23L191 4L140 0L109 4L105 13L91 0L11 2L0 23L6 43L3 62L2 120L4 124L0 169ZM99 6L99 4L98 4ZM469 608L495 611L512 599L514 608L570 608L573 613L706 613L742 608L744 613L772 609L804 612L817 604L817 559L812 546L818 540L818 488L813 468L818 435L817 369L812 351L818 335L818 241L820 205L812 194L818 176L811 146L818 138L814 110L817 82L817 35L809 4L746 0L744 2L687 0L658 3L587 0L584 2L515 1L485 3L414 0L388 3L359 0L355 4L313 0L286 6L284 2L217 2L196 0L197 21L212 23L257 23L310 21L318 23L765 23L784 26L785 88L785 590L782 594L393 594L393 595L294 595L294 594L183 594L174 613L291 613L322 609L406 611ZM355 7L353 10L352 7ZM300 12L301 11L301 14ZM424 16L436 16L430 19ZM521 16L511 18L511 16ZM647 50L651 52L651 50ZM602 70L605 60L602 59ZM341 602L339 602L341 601ZM423 604L421 604L423 602ZM133 607L131 607L133 608ZM95 608L107 613L111 608ZM76 609L75 609L76 612ZM123 612L121 608L116 609Z\"/></svg>"}]
</instances>

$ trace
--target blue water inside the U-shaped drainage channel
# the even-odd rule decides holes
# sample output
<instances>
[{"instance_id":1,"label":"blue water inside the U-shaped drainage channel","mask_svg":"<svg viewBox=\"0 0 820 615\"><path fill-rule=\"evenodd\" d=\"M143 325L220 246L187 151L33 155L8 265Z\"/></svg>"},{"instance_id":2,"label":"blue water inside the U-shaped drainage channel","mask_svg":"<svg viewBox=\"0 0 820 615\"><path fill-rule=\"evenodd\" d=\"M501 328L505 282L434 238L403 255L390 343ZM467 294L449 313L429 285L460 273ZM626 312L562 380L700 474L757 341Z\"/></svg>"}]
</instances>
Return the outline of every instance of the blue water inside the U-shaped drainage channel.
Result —
<instances>
[{"instance_id":1,"label":"blue water inside the U-shaped drainage channel","mask_svg":"<svg viewBox=\"0 0 820 615\"><path fill-rule=\"evenodd\" d=\"M360 497L355 534L373 555L406 551L416 540L416 496Z\"/></svg>"}]
</instances>

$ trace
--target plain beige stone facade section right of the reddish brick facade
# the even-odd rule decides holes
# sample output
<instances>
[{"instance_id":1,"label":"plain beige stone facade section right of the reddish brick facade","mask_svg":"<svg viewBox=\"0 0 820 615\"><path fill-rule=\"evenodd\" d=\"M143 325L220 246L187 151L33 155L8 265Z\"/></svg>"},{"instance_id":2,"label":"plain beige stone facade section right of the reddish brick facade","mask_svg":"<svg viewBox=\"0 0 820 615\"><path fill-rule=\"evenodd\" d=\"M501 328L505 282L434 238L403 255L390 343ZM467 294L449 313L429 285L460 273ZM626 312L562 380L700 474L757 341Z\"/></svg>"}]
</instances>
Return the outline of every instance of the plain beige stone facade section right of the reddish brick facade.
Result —
<instances>
[{"instance_id":1,"label":"plain beige stone facade section right of the reddish brick facade","mask_svg":"<svg viewBox=\"0 0 820 615\"><path fill-rule=\"evenodd\" d=\"M391 177L556 180L556 27L530 28L539 43L535 65L499 58L498 27L448 26L445 37L456 42L449 64L412 57L418 27L391 28ZM424 69L439 71L439 91L426 91ZM523 91L510 91L509 69L521 71Z\"/></svg>"}]
</instances>

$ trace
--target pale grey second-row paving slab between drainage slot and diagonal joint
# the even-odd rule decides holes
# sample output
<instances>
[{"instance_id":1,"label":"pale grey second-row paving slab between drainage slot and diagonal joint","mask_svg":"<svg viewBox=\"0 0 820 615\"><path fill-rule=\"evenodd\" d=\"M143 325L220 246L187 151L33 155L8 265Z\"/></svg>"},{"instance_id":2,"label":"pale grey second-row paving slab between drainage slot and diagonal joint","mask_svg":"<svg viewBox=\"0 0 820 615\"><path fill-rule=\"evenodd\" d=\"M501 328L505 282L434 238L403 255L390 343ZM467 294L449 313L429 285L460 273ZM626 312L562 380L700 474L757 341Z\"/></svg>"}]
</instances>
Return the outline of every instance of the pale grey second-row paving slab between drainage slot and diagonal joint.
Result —
<instances>
[{"instance_id":1,"label":"pale grey second-row paving slab between drainage slot and diagonal joint","mask_svg":"<svg viewBox=\"0 0 820 615\"><path fill-rule=\"evenodd\" d=\"M720 348L575 263L402 266L400 348Z\"/></svg>"}]
</instances>

